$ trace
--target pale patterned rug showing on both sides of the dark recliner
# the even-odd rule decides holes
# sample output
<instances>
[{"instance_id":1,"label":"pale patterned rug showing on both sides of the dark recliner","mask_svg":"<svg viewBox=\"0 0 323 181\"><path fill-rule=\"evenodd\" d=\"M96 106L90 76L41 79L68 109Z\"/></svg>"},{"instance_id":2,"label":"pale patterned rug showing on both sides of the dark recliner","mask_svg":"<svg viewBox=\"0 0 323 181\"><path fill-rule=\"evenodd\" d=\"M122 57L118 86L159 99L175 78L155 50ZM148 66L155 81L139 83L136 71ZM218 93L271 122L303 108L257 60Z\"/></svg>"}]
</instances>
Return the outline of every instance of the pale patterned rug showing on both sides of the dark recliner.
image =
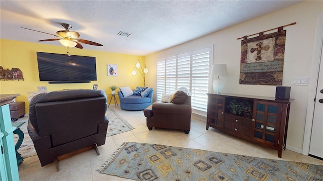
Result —
<instances>
[{"instance_id":1,"label":"pale patterned rug showing on both sides of the dark recliner","mask_svg":"<svg viewBox=\"0 0 323 181\"><path fill-rule=\"evenodd\" d=\"M123 119L114 109L108 109L106 114L109 116L109 125L107 126L106 136L112 136L119 133L123 133L126 131L133 130L134 128ZM21 154L23 158L28 158L36 155L36 150L34 148L34 143L29 137L27 131L28 125L28 116L24 118L19 118L18 122L24 122L24 124L20 127L21 131L24 132L24 140L21 146L18 149L18 152ZM14 141L17 143L18 135L14 134Z\"/></svg>"}]
</instances>

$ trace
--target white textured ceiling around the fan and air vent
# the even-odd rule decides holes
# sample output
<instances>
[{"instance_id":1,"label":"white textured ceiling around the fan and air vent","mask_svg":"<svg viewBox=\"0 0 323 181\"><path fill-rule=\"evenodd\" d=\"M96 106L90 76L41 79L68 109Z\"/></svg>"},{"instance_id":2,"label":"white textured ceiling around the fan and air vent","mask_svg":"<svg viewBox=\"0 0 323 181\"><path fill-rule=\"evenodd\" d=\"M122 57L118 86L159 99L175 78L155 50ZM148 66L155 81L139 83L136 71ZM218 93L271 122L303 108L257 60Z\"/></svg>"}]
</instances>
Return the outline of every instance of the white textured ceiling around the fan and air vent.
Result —
<instances>
[{"instance_id":1,"label":"white textured ceiling around the fan and air vent","mask_svg":"<svg viewBox=\"0 0 323 181\"><path fill-rule=\"evenodd\" d=\"M71 24L84 49L148 55L301 1L0 1L1 39L37 42ZM290 23L290 22L287 22ZM117 35L120 31L130 37Z\"/></svg>"}]
</instances>

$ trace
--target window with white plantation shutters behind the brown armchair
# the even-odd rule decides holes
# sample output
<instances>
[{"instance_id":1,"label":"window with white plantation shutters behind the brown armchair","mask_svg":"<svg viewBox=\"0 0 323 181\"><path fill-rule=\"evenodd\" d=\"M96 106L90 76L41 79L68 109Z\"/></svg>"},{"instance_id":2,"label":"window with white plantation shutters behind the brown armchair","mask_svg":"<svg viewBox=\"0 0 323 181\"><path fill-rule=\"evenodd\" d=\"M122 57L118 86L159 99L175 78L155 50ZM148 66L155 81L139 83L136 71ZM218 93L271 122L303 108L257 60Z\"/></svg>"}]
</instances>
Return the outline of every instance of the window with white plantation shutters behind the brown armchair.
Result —
<instances>
[{"instance_id":1,"label":"window with white plantation shutters behind the brown armchair","mask_svg":"<svg viewBox=\"0 0 323 181\"><path fill-rule=\"evenodd\" d=\"M157 100L179 87L190 90L193 112L206 112L213 47L194 50L157 62Z\"/></svg>"}]
</instances>

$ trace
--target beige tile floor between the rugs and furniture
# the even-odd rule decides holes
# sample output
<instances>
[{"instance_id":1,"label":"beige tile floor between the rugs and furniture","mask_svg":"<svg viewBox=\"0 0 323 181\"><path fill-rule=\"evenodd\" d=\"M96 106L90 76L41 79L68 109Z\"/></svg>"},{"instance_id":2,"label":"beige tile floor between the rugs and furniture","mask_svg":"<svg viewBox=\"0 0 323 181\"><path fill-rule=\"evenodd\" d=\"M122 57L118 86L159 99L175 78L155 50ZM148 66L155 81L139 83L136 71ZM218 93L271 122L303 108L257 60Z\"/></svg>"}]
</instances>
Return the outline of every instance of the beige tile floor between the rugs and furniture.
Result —
<instances>
[{"instance_id":1,"label":"beige tile floor between the rugs and furniture","mask_svg":"<svg viewBox=\"0 0 323 181\"><path fill-rule=\"evenodd\" d=\"M18 167L20 180L129 180L96 171L123 142L127 141L158 143L323 165L323 161L319 159L290 150L283 151L282 158L278 158L276 150L244 141L213 128L206 130L206 122L193 119L191 122L191 131L188 135L178 130L152 129L149 131L146 127L146 119L143 111L124 111L120 107L115 108L114 105L111 105L111 108L115 109L135 129L106 137L105 145L98 147L100 151L99 156L92 149L59 161L60 171L58 172L54 164L41 167L37 156L25 158Z\"/></svg>"}]
</instances>

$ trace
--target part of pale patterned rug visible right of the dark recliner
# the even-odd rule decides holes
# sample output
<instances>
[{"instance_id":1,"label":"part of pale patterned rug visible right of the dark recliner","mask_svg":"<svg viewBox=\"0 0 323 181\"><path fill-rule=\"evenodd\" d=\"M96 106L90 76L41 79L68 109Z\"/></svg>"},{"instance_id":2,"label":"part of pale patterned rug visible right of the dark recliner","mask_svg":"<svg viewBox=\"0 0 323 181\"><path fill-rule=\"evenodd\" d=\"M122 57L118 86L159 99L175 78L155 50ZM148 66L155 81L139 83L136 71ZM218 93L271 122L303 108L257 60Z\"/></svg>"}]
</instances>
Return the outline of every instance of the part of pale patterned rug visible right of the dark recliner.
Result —
<instances>
[{"instance_id":1,"label":"part of pale patterned rug visible right of the dark recliner","mask_svg":"<svg viewBox=\"0 0 323 181\"><path fill-rule=\"evenodd\" d=\"M114 109L107 109L109 116L109 125L107 125L106 136L112 136L133 130L132 127L125 119L123 119Z\"/></svg>"}]
</instances>

